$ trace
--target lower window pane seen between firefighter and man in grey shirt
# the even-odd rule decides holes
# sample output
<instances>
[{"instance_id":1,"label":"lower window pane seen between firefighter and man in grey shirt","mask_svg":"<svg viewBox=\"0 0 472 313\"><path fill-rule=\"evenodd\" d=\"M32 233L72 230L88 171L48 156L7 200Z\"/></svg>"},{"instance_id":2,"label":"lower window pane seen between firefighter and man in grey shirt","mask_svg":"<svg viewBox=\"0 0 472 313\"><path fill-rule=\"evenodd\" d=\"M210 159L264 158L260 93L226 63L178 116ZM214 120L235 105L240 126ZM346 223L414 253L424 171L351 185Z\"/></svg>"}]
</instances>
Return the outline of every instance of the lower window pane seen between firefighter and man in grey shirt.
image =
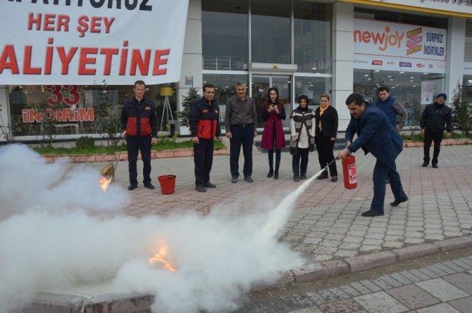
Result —
<instances>
[{"instance_id":1,"label":"lower window pane seen between firefighter and man in grey shirt","mask_svg":"<svg viewBox=\"0 0 472 313\"><path fill-rule=\"evenodd\" d=\"M221 129L224 128L226 102L229 98L236 95L235 84L244 82L247 84L247 75L216 75L204 74L203 83L215 86L215 98L220 106ZM249 91L248 91L249 92Z\"/></svg>"}]
</instances>

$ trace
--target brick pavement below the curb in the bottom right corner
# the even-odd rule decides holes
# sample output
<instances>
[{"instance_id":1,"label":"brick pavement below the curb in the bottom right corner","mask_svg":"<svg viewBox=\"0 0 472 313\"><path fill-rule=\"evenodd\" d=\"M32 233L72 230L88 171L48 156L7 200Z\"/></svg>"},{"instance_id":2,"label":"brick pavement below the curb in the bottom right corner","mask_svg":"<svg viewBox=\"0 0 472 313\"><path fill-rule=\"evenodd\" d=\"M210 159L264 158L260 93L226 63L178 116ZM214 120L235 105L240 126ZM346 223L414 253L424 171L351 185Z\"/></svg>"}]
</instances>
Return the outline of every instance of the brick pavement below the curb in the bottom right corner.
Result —
<instances>
[{"instance_id":1,"label":"brick pavement below the curb in the bottom right corner","mask_svg":"<svg viewBox=\"0 0 472 313\"><path fill-rule=\"evenodd\" d=\"M237 312L472 312L472 255L324 290L255 300Z\"/></svg>"}]
</instances>

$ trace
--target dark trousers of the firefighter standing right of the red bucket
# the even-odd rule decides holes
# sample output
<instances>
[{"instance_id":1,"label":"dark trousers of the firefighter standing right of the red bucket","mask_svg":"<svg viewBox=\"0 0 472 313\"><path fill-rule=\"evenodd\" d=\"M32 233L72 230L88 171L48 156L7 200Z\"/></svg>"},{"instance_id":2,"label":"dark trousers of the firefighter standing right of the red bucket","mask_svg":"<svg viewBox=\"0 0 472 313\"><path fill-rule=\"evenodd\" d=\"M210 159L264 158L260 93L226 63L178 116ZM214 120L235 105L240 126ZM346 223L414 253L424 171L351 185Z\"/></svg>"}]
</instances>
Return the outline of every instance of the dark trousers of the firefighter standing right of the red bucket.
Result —
<instances>
[{"instance_id":1,"label":"dark trousers of the firefighter standing right of the red bucket","mask_svg":"<svg viewBox=\"0 0 472 313\"><path fill-rule=\"evenodd\" d=\"M211 165L213 164L213 140L199 139L194 143L195 184L203 185L210 181Z\"/></svg>"}]
</instances>

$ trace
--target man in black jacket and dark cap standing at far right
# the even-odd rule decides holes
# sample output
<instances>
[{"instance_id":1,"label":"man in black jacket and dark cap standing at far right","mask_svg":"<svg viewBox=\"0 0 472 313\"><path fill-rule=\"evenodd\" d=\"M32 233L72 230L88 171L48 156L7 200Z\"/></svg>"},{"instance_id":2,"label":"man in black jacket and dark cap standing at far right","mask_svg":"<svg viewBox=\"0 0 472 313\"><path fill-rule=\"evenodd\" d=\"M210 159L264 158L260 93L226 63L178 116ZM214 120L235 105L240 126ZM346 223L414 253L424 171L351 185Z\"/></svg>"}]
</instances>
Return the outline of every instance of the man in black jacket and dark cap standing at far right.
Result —
<instances>
[{"instance_id":1,"label":"man in black jacket and dark cap standing at far right","mask_svg":"<svg viewBox=\"0 0 472 313\"><path fill-rule=\"evenodd\" d=\"M421 134L424 134L424 158L423 167L427 167L430 162L430 147L434 141L433 160L431 164L437 168L437 157L440 153L442 136L446 129L446 136L451 136L452 132L452 110L445 105L446 94L438 94L436 102L426 106L421 115ZM446 124L446 127L445 127Z\"/></svg>"}]
</instances>

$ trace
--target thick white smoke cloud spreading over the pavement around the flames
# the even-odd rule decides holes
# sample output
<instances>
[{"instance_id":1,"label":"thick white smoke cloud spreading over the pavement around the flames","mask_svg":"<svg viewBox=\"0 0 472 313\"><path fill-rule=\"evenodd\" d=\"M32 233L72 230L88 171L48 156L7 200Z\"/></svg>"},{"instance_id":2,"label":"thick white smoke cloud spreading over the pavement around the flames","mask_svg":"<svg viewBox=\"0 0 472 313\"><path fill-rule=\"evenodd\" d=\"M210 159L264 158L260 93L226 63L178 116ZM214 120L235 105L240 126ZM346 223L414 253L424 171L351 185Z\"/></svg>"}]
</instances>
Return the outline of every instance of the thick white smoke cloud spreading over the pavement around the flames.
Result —
<instances>
[{"instance_id":1,"label":"thick white smoke cloud spreading over the pavement around the flames","mask_svg":"<svg viewBox=\"0 0 472 313\"><path fill-rule=\"evenodd\" d=\"M104 194L98 173L67 169L66 162L46 164L25 146L0 148L0 205L14 213L0 222L0 303L108 281L118 293L154 295L155 312L219 312L235 309L254 281L300 265L276 236L261 234L272 207L268 201L240 216L225 215L220 207L206 216L135 218L116 212L104 218L92 210L123 207L128 193L112 184ZM23 182L9 184L8 177ZM161 241L177 272L149 264Z\"/></svg>"}]
</instances>

